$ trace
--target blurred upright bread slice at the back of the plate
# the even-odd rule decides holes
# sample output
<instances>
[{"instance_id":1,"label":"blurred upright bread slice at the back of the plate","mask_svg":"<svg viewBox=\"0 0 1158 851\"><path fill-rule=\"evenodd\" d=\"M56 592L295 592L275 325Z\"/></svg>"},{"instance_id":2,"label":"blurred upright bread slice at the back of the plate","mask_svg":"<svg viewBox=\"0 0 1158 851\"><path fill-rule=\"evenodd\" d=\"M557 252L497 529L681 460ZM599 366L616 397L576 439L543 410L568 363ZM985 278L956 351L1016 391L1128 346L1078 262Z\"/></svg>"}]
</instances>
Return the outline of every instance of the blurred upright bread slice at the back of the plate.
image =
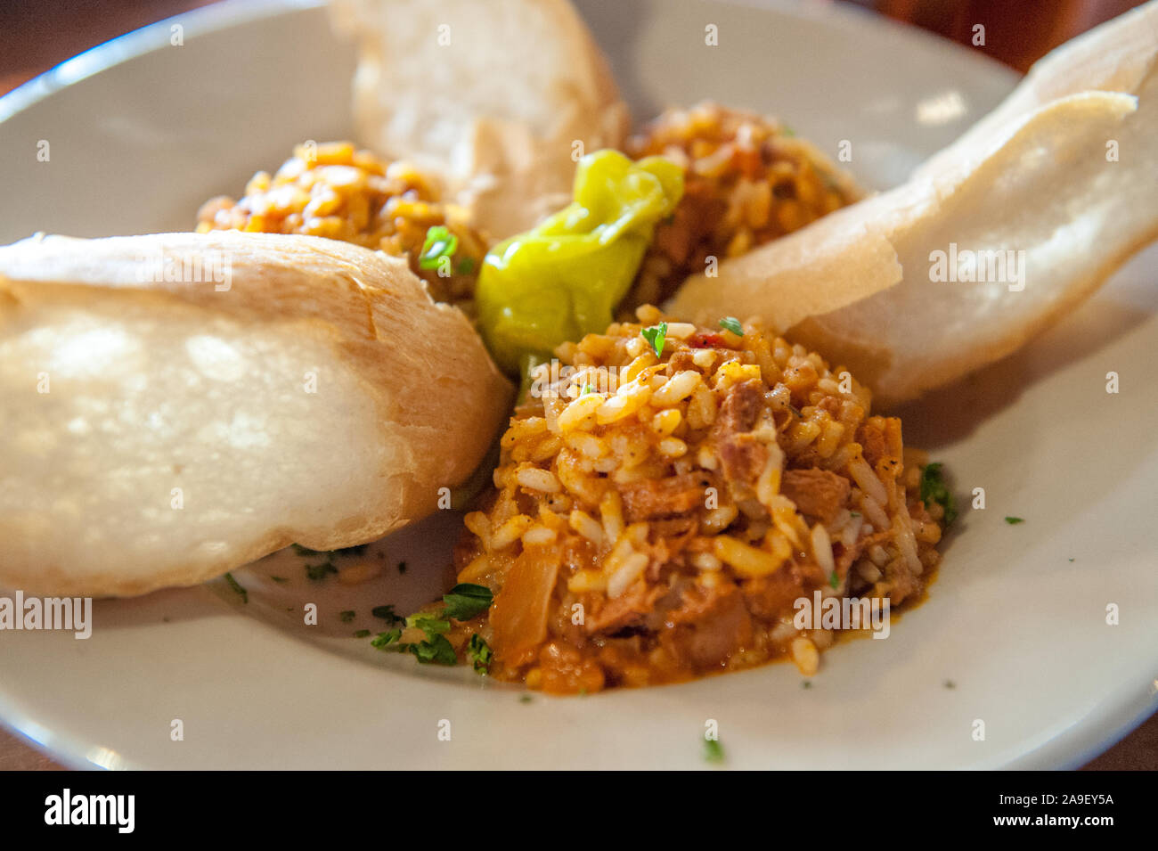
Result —
<instances>
[{"instance_id":1,"label":"blurred upright bread slice at the back of the plate","mask_svg":"<svg viewBox=\"0 0 1158 851\"><path fill-rule=\"evenodd\" d=\"M358 45L359 141L444 174L499 240L571 199L577 154L630 116L566 0L335 0Z\"/></svg>"}]
</instances>

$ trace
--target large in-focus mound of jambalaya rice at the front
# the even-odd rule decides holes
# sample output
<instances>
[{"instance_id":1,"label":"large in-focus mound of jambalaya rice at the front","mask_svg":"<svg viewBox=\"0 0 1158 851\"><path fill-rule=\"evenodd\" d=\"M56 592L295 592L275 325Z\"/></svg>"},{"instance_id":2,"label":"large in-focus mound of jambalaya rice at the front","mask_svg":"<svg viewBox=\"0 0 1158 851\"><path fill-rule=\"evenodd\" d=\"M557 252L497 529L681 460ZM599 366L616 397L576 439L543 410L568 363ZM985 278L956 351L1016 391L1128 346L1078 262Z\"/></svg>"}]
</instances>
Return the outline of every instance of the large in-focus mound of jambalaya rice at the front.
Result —
<instances>
[{"instance_id":1,"label":"large in-focus mound of jambalaya rice at the front","mask_svg":"<svg viewBox=\"0 0 1158 851\"><path fill-rule=\"evenodd\" d=\"M834 632L796 629L794 601L919 597L941 506L899 419L757 327L637 317L560 346L516 409L455 553L494 603L456 647L477 634L492 675L557 694L784 655L811 675Z\"/></svg>"}]
</instances>

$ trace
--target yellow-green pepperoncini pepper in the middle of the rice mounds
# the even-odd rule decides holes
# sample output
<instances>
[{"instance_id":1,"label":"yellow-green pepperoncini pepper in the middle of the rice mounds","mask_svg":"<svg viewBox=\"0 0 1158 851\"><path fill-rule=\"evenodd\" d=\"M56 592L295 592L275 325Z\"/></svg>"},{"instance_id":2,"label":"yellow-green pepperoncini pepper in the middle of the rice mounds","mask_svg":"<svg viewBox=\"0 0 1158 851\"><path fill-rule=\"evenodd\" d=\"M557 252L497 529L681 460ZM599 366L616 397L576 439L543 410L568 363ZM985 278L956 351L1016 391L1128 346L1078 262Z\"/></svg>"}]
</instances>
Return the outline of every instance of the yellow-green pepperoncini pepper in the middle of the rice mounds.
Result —
<instances>
[{"instance_id":1,"label":"yellow-green pepperoncini pepper in the middle of the rice mounds","mask_svg":"<svg viewBox=\"0 0 1158 851\"><path fill-rule=\"evenodd\" d=\"M475 292L494 360L523 373L566 340L602 332L636 277L655 225L675 212L683 171L617 151L579 161L574 201L492 248Z\"/></svg>"}]
</instances>

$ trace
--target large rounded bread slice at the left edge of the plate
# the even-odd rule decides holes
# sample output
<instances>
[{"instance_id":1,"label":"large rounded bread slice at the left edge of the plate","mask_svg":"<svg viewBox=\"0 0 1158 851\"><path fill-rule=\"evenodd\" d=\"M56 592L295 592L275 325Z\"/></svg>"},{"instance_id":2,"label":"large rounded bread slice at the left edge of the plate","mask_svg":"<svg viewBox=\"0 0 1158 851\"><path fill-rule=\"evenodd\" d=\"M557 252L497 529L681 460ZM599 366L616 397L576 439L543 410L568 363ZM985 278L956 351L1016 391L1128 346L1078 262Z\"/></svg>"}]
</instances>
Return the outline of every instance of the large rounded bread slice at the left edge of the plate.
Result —
<instances>
[{"instance_id":1,"label":"large rounded bread slice at the left edge of the plate","mask_svg":"<svg viewBox=\"0 0 1158 851\"><path fill-rule=\"evenodd\" d=\"M131 595L435 509L512 388L405 262L214 232L0 248L0 586Z\"/></svg>"}]
</instances>

